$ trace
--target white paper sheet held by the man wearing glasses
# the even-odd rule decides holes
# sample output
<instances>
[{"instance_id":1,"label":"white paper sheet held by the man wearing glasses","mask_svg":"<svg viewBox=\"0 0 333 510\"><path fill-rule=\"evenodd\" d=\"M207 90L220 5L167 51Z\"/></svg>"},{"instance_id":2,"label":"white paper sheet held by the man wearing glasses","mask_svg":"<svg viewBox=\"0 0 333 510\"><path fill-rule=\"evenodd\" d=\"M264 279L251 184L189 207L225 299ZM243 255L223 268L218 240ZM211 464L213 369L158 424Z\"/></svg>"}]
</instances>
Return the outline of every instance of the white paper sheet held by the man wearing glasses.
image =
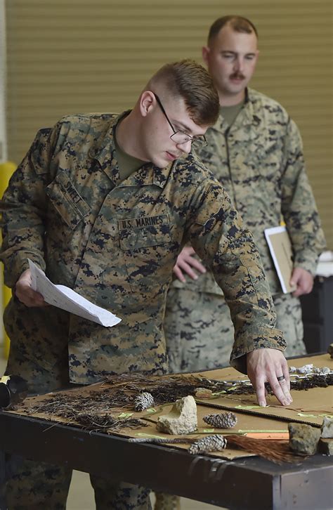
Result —
<instances>
[{"instance_id":1,"label":"white paper sheet held by the man wearing glasses","mask_svg":"<svg viewBox=\"0 0 333 510\"><path fill-rule=\"evenodd\" d=\"M46 303L58 306L58 308L97 322L105 327L115 326L121 321L117 315L105 310L105 308L94 305L70 287L54 285L35 263L30 259L28 260L32 277L32 289L37 290L44 297Z\"/></svg>"}]
</instances>

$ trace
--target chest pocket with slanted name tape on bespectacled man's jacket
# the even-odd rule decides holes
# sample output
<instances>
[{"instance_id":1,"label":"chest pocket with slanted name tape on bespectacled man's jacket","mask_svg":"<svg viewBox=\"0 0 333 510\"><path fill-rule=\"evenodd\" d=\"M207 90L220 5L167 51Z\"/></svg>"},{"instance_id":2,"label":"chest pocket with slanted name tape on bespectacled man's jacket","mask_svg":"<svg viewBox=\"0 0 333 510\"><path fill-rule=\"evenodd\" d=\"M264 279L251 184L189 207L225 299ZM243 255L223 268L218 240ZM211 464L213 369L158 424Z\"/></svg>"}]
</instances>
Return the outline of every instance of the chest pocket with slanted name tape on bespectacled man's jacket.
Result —
<instances>
[{"instance_id":1,"label":"chest pocket with slanted name tape on bespectacled man's jacket","mask_svg":"<svg viewBox=\"0 0 333 510\"><path fill-rule=\"evenodd\" d=\"M71 229L76 228L81 219L90 211L89 205L83 200L65 172L60 172L48 185L46 195Z\"/></svg>"}]
</instances>

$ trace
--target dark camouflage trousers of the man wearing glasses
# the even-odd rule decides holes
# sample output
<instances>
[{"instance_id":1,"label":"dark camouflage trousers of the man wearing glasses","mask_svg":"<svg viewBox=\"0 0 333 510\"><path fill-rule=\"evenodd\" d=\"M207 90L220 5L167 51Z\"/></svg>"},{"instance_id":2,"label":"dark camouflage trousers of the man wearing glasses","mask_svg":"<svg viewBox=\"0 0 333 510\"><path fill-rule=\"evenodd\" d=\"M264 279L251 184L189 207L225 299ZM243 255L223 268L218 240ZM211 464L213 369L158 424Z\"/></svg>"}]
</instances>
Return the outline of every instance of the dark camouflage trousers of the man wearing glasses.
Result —
<instances>
[{"instance_id":1,"label":"dark camouflage trousers of the man wearing glasses","mask_svg":"<svg viewBox=\"0 0 333 510\"><path fill-rule=\"evenodd\" d=\"M55 366L50 373L15 353L13 344L6 373L27 379L31 393L47 393L69 386L67 360ZM68 467L6 455L6 482L1 492L8 510L65 510L71 477L72 470ZM96 509L151 509L150 490L147 488L114 483L93 475L90 478L95 490Z\"/></svg>"}]
</instances>

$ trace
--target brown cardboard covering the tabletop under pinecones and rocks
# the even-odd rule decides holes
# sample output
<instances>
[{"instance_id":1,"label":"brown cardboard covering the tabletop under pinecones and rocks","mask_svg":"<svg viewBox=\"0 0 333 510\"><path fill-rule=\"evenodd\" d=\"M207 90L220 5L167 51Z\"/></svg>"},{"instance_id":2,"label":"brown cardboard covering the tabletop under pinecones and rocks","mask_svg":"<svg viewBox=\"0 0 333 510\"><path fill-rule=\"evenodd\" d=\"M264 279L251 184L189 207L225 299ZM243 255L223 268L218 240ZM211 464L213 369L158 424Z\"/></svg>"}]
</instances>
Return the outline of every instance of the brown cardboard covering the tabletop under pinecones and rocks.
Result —
<instances>
[{"instance_id":1,"label":"brown cardboard covering the tabletop under pinecones and rocks","mask_svg":"<svg viewBox=\"0 0 333 510\"><path fill-rule=\"evenodd\" d=\"M300 367L302 365L313 363L315 367L329 367L333 370L333 360L328 354L312 356L307 358L299 358L290 360L289 365ZM197 372L202 374L207 379L216 379L219 381L226 380L244 380L246 376L240 374L233 368L225 368L221 370L209 370L204 372ZM91 386L75 388L67 391L62 391L62 395L89 395L94 391L105 388L105 384L98 383ZM59 392L57 392L59 393ZM46 395L38 395L36 397L27 398L23 405L18 407L18 410L10 411L15 414L23 414L25 416L41 418L51 422L58 422L72 426L80 426L74 421L70 422L62 417L52 416L46 413L35 413L30 411L30 407L36 403L45 403L52 398L54 393ZM228 439L228 433L262 433L269 434L278 432L287 432L289 421L300 421L306 424L320 427L324 416L333 416L333 390L332 386L327 388L312 388L307 391L292 391L292 398L294 402L288 407L282 407L274 396L267 398L268 407L259 407L256 403L256 395L225 395L218 396L218 398L211 399L196 399L197 400L197 416L198 416L198 430L185 437L199 438L211 433L223 433ZM212 407L213 405L221 406L221 409ZM156 421L162 414L167 414L173 404L165 404L156 406L150 410L143 412L134 412L133 407L112 407L110 414L112 417L123 417L124 414L130 415L131 418L141 418L145 421L147 426L141 429L122 428L120 431L108 431L108 433L118 436L143 438L143 437L166 437L172 438L169 434L160 433L156 429ZM237 416L237 424L233 429L214 429L204 423L203 417L207 414L215 414L230 410ZM180 437L180 436L178 436ZM167 445L168 447L188 448L189 445ZM209 455L213 457L222 457L225 459L235 459L237 457L247 457L252 455L244 450L233 450L227 447L223 452L213 452Z\"/></svg>"}]
</instances>

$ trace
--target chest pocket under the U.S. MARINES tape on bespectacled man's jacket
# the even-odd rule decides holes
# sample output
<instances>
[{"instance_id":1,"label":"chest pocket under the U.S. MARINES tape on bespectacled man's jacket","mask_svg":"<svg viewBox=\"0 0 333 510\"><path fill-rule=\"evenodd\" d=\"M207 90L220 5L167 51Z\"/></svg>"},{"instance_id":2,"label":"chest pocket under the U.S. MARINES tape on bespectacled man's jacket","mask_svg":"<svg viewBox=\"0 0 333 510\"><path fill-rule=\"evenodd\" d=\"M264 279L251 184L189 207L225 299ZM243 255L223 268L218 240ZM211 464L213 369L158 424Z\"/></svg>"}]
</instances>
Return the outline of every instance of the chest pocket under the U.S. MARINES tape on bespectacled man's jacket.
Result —
<instances>
[{"instance_id":1,"label":"chest pocket under the U.S. MARINES tape on bespectacled man's jacket","mask_svg":"<svg viewBox=\"0 0 333 510\"><path fill-rule=\"evenodd\" d=\"M155 292L171 278L176 246L166 214L118 221L120 247L133 292Z\"/></svg>"}]
</instances>

